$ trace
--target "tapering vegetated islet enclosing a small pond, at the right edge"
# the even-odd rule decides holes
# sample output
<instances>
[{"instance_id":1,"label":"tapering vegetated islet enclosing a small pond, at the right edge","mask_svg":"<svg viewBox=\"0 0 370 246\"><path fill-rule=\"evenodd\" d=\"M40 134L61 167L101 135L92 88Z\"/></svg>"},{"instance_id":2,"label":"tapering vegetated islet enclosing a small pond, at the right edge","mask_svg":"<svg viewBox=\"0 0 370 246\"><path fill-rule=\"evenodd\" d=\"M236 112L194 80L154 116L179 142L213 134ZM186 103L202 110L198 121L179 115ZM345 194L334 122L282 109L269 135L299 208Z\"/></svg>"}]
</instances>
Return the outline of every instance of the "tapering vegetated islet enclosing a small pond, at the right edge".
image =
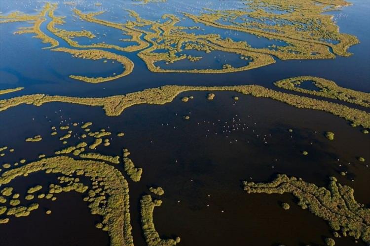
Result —
<instances>
[{"instance_id":1,"label":"tapering vegetated islet enclosing a small pond, at the right edge","mask_svg":"<svg viewBox=\"0 0 370 246\"><path fill-rule=\"evenodd\" d=\"M298 87L303 82L312 82L319 91ZM356 91L338 86L335 82L313 76L301 76L274 82L280 88L294 90L306 94L333 98L344 102L358 104L370 108L370 93Z\"/></svg>"}]
</instances>

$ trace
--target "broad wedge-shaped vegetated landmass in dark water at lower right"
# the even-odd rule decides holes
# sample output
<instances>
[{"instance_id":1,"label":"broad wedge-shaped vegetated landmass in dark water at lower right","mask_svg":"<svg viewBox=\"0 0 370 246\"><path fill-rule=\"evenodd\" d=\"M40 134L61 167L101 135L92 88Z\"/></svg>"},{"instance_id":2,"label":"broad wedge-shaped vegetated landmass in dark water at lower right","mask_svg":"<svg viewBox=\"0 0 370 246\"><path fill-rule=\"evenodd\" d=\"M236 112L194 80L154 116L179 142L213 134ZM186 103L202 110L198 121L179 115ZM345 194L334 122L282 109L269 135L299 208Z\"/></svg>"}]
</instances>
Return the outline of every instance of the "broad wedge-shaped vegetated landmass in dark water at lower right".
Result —
<instances>
[{"instance_id":1,"label":"broad wedge-shaped vegetated landmass in dark water at lower right","mask_svg":"<svg viewBox=\"0 0 370 246\"><path fill-rule=\"evenodd\" d=\"M356 202L353 189L338 184L335 177L330 178L328 188L285 174L278 175L270 183L243 183L248 193L291 193L298 199L298 205L326 220L333 230L370 244L370 208Z\"/></svg>"}]
</instances>

